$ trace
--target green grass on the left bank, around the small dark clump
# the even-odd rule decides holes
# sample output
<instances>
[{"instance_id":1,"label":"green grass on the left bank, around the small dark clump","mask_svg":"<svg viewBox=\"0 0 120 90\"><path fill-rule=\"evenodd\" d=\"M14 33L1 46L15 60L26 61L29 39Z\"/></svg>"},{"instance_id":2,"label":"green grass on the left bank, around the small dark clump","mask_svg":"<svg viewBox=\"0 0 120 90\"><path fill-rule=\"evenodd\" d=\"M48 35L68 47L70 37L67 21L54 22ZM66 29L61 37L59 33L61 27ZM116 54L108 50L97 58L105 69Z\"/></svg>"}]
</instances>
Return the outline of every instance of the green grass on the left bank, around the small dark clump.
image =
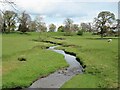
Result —
<instances>
[{"instance_id":1,"label":"green grass on the left bank, around the small dark clump","mask_svg":"<svg viewBox=\"0 0 120 90\"><path fill-rule=\"evenodd\" d=\"M62 55L42 49L43 46L51 44L32 41L36 38L37 33L3 34L3 88L28 87L36 79L68 66ZM23 55L26 61L19 61L18 58Z\"/></svg>"}]
</instances>

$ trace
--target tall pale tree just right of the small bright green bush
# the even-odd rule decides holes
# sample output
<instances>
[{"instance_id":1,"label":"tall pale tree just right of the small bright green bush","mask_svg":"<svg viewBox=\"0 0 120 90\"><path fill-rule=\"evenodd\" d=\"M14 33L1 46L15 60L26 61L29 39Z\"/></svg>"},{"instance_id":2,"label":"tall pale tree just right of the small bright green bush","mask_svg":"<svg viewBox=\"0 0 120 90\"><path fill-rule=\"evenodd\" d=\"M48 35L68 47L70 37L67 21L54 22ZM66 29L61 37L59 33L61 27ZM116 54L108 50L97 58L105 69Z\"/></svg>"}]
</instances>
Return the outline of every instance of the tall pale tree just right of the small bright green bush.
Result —
<instances>
[{"instance_id":1,"label":"tall pale tree just right of the small bright green bush","mask_svg":"<svg viewBox=\"0 0 120 90\"><path fill-rule=\"evenodd\" d=\"M73 20L70 19L70 18L67 18L65 21L64 21L64 24L65 24L65 32L66 32L66 35L71 35L73 29L72 29L72 25L73 25Z\"/></svg>"}]
</instances>

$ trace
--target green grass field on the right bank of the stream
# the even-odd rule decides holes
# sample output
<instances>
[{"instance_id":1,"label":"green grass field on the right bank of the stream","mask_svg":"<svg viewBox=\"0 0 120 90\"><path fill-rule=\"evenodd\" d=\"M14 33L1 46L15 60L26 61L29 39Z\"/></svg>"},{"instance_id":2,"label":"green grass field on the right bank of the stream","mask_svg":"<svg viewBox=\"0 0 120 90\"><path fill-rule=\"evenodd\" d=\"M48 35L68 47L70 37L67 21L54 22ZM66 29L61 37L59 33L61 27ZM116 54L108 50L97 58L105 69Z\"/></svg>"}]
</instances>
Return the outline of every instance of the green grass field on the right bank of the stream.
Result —
<instances>
[{"instance_id":1,"label":"green grass field on the right bank of the stream","mask_svg":"<svg viewBox=\"0 0 120 90\"><path fill-rule=\"evenodd\" d=\"M57 36L56 36L57 37ZM58 36L65 40L50 38L50 41L62 43L63 49L76 54L86 65L84 75L78 75L63 85L63 88L116 88L118 87L118 39L117 37L93 36L85 33L83 36ZM112 38L111 43L107 42ZM63 43L64 42L64 43ZM67 45L67 47L64 47ZM92 80L91 80L92 79ZM88 82L83 85L83 82ZM97 84L96 84L97 82Z\"/></svg>"}]
</instances>

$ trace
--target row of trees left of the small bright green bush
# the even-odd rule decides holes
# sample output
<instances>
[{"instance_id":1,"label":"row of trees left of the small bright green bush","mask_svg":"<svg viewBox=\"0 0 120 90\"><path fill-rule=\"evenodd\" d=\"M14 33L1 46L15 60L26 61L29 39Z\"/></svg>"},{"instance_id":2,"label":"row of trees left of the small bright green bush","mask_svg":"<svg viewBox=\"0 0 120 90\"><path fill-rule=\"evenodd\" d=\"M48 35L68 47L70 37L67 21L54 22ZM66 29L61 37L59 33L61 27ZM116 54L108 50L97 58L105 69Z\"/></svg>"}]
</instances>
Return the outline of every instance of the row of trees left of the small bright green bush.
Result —
<instances>
[{"instance_id":1,"label":"row of trees left of the small bright green bush","mask_svg":"<svg viewBox=\"0 0 120 90\"><path fill-rule=\"evenodd\" d=\"M49 31L54 31L56 26L54 24L49 25ZM10 33L13 31L25 32L46 32L47 26L43 22L43 18L37 16L35 20L31 20L29 14L25 11L18 14L14 11L5 11L0 13L0 32Z\"/></svg>"}]
</instances>

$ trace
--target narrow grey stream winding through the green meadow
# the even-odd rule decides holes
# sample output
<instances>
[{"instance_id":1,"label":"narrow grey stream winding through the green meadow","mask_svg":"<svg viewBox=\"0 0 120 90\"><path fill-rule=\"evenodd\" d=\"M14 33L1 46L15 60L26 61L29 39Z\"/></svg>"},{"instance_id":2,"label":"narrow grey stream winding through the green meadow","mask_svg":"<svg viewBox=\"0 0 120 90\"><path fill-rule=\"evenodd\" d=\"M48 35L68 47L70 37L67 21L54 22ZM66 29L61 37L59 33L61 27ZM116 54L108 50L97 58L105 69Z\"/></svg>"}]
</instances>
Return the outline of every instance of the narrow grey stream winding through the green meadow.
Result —
<instances>
[{"instance_id":1,"label":"narrow grey stream winding through the green meadow","mask_svg":"<svg viewBox=\"0 0 120 90\"><path fill-rule=\"evenodd\" d=\"M82 74L83 68L76 60L76 57L66 54L63 50L56 50L55 47L58 46L49 47L48 50L64 55L69 67L58 70L47 77L38 79L29 88L60 88L65 82L70 80L76 74Z\"/></svg>"}]
</instances>

